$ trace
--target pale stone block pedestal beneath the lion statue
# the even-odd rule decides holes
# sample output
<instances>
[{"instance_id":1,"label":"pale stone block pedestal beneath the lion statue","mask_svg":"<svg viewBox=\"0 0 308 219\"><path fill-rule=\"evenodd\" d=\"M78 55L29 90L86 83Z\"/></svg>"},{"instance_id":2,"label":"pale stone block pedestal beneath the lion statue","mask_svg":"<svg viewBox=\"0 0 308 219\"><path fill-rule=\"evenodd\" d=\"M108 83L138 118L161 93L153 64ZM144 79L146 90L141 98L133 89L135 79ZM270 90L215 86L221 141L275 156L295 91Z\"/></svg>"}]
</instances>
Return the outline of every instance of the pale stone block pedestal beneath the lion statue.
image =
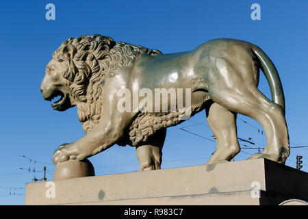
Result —
<instances>
[{"instance_id":1,"label":"pale stone block pedestal beneath the lion statue","mask_svg":"<svg viewBox=\"0 0 308 219\"><path fill-rule=\"evenodd\" d=\"M308 174L268 159L27 183L25 205L279 205Z\"/></svg>"}]
</instances>

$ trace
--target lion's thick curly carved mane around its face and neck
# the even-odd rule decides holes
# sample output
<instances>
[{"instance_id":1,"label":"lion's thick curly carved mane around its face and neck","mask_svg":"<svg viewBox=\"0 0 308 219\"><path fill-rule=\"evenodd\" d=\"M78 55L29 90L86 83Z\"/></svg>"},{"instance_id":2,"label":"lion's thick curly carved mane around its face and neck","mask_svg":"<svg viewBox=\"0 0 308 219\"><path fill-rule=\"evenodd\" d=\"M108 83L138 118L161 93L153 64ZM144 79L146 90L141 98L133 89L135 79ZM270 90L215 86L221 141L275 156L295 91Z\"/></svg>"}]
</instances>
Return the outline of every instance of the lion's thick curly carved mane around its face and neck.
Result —
<instances>
[{"instance_id":1,"label":"lion's thick curly carved mane around its face and neck","mask_svg":"<svg viewBox=\"0 0 308 219\"><path fill-rule=\"evenodd\" d=\"M63 77L77 103L78 119L86 133L101 122L105 79L114 77L120 68L131 64L141 53L162 54L157 49L115 42L101 35L69 38L53 52L54 60L66 63ZM141 133L140 130L131 131ZM140 137L132 138L135 142L141 140Z\"/></svg>"}]
</instances>

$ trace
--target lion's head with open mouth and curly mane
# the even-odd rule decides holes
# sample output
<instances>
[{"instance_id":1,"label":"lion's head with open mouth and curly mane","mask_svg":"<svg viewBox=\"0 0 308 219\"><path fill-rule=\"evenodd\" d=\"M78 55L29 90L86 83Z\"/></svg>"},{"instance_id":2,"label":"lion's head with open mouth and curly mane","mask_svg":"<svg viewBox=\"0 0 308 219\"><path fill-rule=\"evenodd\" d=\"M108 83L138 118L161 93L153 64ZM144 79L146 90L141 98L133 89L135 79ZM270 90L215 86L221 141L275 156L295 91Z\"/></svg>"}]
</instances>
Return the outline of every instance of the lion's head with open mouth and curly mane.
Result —
<instances>
[{"instance_id":1,"label":"lion's head with open mouth and curly mane","mask_svg":"<svg viewBox=\"0 0 308 219\"><path fill-rule=\"evenodd\" d=\"M141 53L161 52L101 35L69 38L53 52L40 91L48 101L61 96L51 105L54 110L64 111L77 105L79 121L88 133L101 120L105 79L114 77Z\"/></svg>"}]
</instances>

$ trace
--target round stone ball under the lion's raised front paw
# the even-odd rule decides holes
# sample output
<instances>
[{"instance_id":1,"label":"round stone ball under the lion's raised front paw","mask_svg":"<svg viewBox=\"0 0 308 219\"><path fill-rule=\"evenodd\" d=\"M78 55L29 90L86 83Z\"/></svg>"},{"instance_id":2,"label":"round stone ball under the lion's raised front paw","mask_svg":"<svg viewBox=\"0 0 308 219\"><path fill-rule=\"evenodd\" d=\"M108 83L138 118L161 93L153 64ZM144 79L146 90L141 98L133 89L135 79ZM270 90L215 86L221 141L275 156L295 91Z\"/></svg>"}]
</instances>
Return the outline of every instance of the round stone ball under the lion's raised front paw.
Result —
<instances>
[{"instance_id":1,"label":"round stone ball under the lion's raised front paw","mask_svg":"<svg viewBox=\"0 0 308 219\"><path fill-rule=\"evenodd\" d=\"M94 167L88 159L70 159L55 166L53 180L94 176Z\"/></svg>"}]
</instances>

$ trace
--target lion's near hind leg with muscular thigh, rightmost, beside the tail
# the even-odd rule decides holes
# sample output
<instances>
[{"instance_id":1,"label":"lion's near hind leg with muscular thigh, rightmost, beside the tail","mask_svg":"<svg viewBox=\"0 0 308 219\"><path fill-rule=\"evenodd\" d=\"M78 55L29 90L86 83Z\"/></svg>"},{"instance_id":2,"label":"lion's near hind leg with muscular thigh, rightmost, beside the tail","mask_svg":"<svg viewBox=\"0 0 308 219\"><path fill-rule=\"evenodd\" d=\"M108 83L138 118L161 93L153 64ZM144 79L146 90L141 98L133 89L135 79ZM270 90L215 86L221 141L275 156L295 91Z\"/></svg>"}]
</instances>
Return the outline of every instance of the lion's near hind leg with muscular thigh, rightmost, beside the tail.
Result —
<instances>
[{"instance_id":1,"label":"lion's near hind leg with muscular thigh, rightmost, beside the tail","mask_svg":"<svg viewBox=\"0 0 308 219\"><path fill-rule=\"evenodd\" d=\"M251 158L267 158L283 164L290 153L283 108L257 89L251 56L238 53L242 55L216 59L216 70L208 73L209 96L227 110L249 116L263 127L266 149Z\"/></svg>"}]
</instances>

